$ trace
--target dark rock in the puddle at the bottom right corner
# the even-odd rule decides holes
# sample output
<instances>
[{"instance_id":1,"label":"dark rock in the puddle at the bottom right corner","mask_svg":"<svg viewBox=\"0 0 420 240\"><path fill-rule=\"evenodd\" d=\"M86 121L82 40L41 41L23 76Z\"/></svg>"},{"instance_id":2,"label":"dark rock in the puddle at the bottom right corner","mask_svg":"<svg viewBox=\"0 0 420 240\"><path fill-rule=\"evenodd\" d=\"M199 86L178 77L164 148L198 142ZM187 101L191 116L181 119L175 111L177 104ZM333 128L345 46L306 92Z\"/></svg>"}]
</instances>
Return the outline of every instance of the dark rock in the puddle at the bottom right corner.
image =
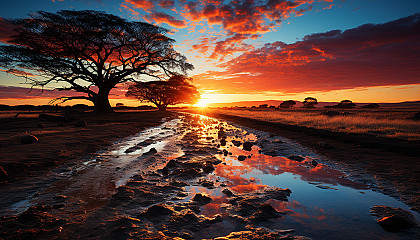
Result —
<instances>
[{"instance_id":1,"label":"dark rock in the puddle at the bottom right corner","mask_svg":"<svg viewBox=\"0 0 420 240\"><path fill-rule=\"evenodd\" d=\"M413 214L402 208L375 205L370 213L378 217L377 223L387 231L398 232L410 227L420 227Z\"/></svg>"}]
</instances>

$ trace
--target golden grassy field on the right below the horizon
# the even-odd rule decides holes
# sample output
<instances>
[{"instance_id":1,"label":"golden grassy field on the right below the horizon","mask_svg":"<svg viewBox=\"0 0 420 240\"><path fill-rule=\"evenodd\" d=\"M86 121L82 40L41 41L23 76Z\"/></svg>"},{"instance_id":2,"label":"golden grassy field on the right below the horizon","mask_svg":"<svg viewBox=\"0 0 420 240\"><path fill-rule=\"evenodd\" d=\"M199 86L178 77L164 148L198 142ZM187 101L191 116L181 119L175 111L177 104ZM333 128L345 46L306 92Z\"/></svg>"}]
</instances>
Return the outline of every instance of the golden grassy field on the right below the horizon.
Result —
<instances>
[{"instance_id":1,"label":"golden grassy field on the right below the horizon","mask_svg":"<svg viewBox=\"0 0 420 240\"><path fill-rule=\"evenodd\" d=\"M352 109L345 110L345 114L334 117L324 115L326 109L212 109L212 111L335 132L366 133L383 137L420 140L420 121L412 119L419 109ZM340 110L340 112L344 111Z\"/></svg>"}]
</instances>

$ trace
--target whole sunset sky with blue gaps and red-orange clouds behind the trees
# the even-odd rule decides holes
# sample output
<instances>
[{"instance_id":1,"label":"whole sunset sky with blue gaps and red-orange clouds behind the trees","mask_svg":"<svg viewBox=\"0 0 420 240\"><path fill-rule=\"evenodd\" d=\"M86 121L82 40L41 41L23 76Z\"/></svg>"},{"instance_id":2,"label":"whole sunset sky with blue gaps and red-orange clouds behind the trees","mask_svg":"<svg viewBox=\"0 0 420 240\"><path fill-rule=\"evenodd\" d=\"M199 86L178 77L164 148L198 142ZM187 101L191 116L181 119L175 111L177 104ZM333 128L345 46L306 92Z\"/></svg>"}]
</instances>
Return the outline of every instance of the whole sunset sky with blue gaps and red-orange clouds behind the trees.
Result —
<instances>
[{"instance_id":1,"label":"whole sunset sky with blue gaps and red-orange clouds behind the trees","mask_svg":"<svg viewBox=\"0 0 420 240\"><path fill-rule=\"evenodd\" d=\"M419 0L4 0L4 19L63 9L101 10L171 30L205 102L420 100ZM0 69L0 104L48 104ZM126 86L112 92L124 102ZM52 90L52 86L50 88ZM87 102L85 102L87 103Z\"/></svg>"}]
</instances>

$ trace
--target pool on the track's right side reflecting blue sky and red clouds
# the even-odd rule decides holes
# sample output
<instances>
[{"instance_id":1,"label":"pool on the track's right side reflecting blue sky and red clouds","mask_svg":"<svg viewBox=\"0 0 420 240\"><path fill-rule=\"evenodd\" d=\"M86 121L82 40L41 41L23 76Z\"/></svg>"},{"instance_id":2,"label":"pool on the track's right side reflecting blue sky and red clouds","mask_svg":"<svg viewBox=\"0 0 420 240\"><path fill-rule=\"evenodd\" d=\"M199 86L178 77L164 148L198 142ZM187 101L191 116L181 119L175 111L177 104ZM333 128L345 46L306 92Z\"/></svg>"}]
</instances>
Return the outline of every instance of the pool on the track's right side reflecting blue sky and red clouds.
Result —
<instances>
[{"instance_id":1,"label":"pool on the track's right side reflecting blue sky and red clouds","mask_svg":"<svg viewBox=\"0 0 420 240\"><path fill-rule=\"evenodd\" d=\"M227 149L232 155L216 156L226 165L217 165L213 178L219 177L221 182L226 180L227 187L237 193L252 192L263 189L265 186L292 190L289 202L268 201L276 210L286 214L278 219L263 222L262 226L274 229L295 229L298 234L314 239L398 239L393 233L385 232L369 214L369 210L373 205L387 205L409 210L404 203L374 192L362 183L351 181L341 172L322 163L312 165L312 160L319 161L320 157L293 141L275 137L277 140L266 140L265 144L262 141L258 142L256 136L260 135L261 138L267 139L268 133L255 131L244 136L246 131L226 124L223 125L223 129L228 133L226 137L228 144L221 149ZM248 152L231 144L232 140L244 142L249 139L257 142L259 146L268 145L273 149L271 152L280 152L279 156L260 154L261 148L258 146L253 146L252 151ZM277 143L278 146L276 146ZM281 152L278 149L284 151ZM303 156L305 160L298 162L281 157L292 154ZM250 158L238 161L239 155L250 156ZM223 187L207 189L191 186L187 189L191 194L184 201L191 199L196 192L204 192L214 201L204 205L201 214L223 215L223 206L228 201L226 195L221 193L222 189ZM419 218L417 213L412 213ZM229 232L236 229L230 220L224 222L217 224L217 231ZM226 229L222 230L222 228Z\"/></svg>"}]
</instances>

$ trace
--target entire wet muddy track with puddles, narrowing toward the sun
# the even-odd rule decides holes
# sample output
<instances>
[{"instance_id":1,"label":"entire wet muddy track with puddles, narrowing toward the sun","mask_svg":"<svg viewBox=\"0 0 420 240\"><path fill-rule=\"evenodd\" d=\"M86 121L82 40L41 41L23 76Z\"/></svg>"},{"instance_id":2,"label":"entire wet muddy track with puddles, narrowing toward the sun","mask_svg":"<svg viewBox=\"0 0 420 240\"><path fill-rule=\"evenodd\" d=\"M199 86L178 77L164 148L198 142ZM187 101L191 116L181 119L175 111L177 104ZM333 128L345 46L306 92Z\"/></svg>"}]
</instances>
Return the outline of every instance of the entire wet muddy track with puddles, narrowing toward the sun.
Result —
<instances>
[{"instance_id":1,"label":"entire wet muddy track with puddles, narrowing toward the sun","mask_svg":"<svg viewBox=\"0 0 420 240\"><path fill-rule=\"evenodd\" d=\"M3 189L5 239L410 239L374 205L405 204L352 181L294 141L180 115ZM32 185L32 188L31 188ZM31 191L28 191L32 189ZM413 221L418 214L410 213ZM413 225L414 226L414 225ZM417 226L417 225L415 225ZM408 228L411 229L412 226ZM357 231L355 231L357 230ZM414 234L414 235L413 235Z\"/></svg>"}]
</instances>

